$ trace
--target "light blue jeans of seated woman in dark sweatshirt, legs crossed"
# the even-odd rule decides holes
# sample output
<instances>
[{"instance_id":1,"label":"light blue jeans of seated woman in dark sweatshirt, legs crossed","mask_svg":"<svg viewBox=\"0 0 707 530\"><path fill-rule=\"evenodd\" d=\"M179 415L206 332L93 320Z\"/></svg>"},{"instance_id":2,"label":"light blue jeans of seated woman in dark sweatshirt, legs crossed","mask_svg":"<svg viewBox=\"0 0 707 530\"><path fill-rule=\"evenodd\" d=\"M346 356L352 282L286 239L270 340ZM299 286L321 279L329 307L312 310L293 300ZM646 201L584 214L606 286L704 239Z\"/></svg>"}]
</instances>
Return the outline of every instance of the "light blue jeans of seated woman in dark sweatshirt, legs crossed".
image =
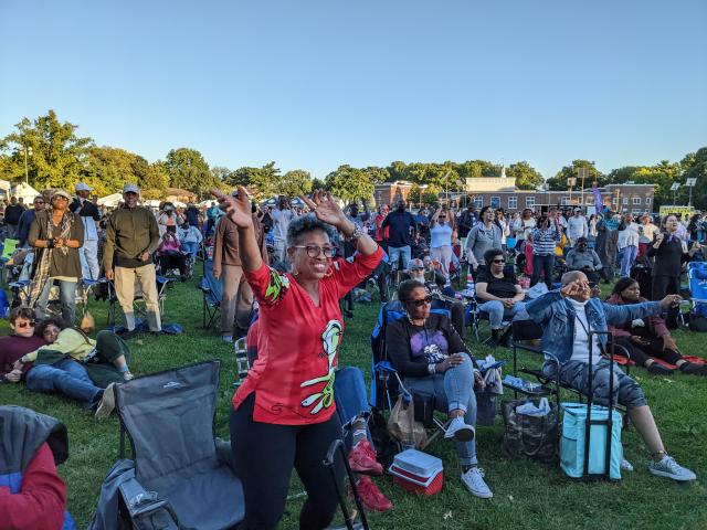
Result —
<instances>
[{"instance_id":1,"label":"light blue jeans of seated woman in dark sweatshirt, legs crossed","mask_svg":"<svg viewBox=\"0 0 707 530\"><path fill-rule=\"evenodd\" d=\"M409 392L434 395L434 407L437 411L464 411L464 422L476 425L476 394L474 394L474 367L471 359L444 373L435 373L426 378L405 378L403 384ZM471 466L478 464L476 459L476 438L469 442L457 442L456 452L460 464Z\"/></svg>"}]
</instances>

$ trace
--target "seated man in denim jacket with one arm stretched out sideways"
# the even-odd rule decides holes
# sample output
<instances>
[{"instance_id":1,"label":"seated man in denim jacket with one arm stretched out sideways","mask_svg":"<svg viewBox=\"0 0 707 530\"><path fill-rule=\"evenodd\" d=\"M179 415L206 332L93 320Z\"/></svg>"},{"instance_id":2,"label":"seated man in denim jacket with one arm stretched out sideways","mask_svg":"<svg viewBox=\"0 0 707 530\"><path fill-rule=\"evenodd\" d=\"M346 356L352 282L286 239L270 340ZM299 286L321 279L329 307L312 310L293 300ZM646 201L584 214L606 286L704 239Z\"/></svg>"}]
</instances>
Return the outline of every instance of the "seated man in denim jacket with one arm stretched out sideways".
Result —
<instances>
[{"instance_id":1,"label":"seated man in denim jacket with one arm stretched out sideways","mask_svg":"<svg viewBox=\"0 0 707 530\"><path fill-rule=\"evenodd\" d=\"M637 318L657 315L678 304L678 295L667 295L661 301L646 301L612 306L591 297L591 287L584 273L572 271L562 276L562 287L528 303L526 309L531 318L542 325L542 351L559 361L562 384L589 394L589 333L606 331L606 325L622 325ZM592 399L598 404L608 404L609 360L601 358L600 348L606 346L606 336L592 336ZM601 344L600 344L601 342ZM546 362L542 367L548 377L555 377L557 367ZM648 470L653 475L674 480L695 480L697 476L679 466L667 455L651 409L646 404L639 384L614 365L612 401L624 405L629 417L643 437L653 457Z\"/></svg>"}]
</instances>

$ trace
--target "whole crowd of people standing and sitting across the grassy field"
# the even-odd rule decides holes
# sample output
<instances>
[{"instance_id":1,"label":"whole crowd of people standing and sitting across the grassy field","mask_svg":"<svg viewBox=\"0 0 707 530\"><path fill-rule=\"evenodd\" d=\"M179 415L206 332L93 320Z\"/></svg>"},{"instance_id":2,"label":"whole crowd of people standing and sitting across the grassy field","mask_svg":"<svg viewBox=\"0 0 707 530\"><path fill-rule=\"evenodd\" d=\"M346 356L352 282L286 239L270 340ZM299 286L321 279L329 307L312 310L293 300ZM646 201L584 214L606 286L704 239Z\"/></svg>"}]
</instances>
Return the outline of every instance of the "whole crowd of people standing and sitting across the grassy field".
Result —
<instances>
[{"instance_id":1,"label":"whole crowd of people standing and sitting across the grassy field","mask_svg":"<svg viewBox=\"0 0 707 530\"><path fill-rule=\"evenodd\" d=\"M257 205L244 188L214 192L209 208L163 203L154 211L140 204L136 184L124 187L118 209L103 212L91 191L84 183L75 195L51 190L31 209L12 198L2 211L3 236L18 240L12 259L24 265L29 288L10 314L11 335L0 338L0 378L63 394L106 417L115 385L134 377L126 341L139 332L136 286L149 332L159 335L158 272L176 269L186 280L196 259L212 259L223 286L221 340L247 335L256 351L230 417L246 507L240 528L277 526L293 469L307 491L300 528L326 528L337 497L326 487L331 477L323 455L342 426L365 506L392 509L369 478L382 468L367 427L362 372L338 375L351 368L339 367L338 352L354 294L371 279L380 300L395 298L405 315L387 328L390 360L407 389L433 395L435 409L449 414L445 437L457 444L461 480L472 495L493 497L476 455L474 389L484 381L464 341L469 298L488 316L492 347L508 346L504 324L511 319L541 324L541 347L558 360L544 367L548 377L598 403L624 405L651 453L652 474L696 478L666 454L640 384L615 368L609 395L609 361L590 363L588 351L604 340L590 330L611 330L648 373L707 374L669 332L677 327L684 265L704 259L707 215L684 223L675 214L636 220L609 209L588 216L581 208L509 213L447 204L413 212L404 200L371 211L366 200L342 208L318 191L303 198L304 205L286 197ZM646 285L635 279L636 267L648 271ZM454 289L462 271L474 292ZM103 330L92 339L76 326L75 300L78 289L101 278L114 284L125 326L119 335ZM598 297L601 283L614 284L605 301ZM53 292L60 315L50 311ZM431 312L435 306L450 317ZM342 466L335 477L342 480Z\"/></svg>"}]
</instances>

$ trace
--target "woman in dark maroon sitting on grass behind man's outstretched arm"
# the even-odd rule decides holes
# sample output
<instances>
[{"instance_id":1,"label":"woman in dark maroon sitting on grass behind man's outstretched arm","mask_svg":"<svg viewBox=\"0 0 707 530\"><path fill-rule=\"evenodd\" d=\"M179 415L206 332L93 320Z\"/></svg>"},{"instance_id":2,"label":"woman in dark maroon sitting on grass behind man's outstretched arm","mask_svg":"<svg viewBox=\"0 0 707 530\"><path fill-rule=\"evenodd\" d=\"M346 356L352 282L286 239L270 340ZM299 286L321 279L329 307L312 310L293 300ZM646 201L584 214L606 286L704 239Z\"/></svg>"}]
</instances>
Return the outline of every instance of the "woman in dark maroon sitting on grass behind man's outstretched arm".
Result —
<instances>
[{"instance_id":1,"label":"woman in dark maroon sitting on grass behind man's outstretched arm","mask_svg":"<svg viewBox=\"0 0 707 530\"><path fill-rule=\"evenodd\" d=\"M633 278L621 278L614 285L606 304L621 306L624 304L640 304L648 301L641 297L641 287ZM619 326L609 326L614 333L618 344L629 350L631 360L641 367L645 367L648 373L669 375L672 368L667 368L656 359L674 364L683 373L693 375L707 375L707 364L689 362L683 357L677 343L671 336L665 320L659 315L647 318L637 318Z\"/></svg>"}]
</instances>

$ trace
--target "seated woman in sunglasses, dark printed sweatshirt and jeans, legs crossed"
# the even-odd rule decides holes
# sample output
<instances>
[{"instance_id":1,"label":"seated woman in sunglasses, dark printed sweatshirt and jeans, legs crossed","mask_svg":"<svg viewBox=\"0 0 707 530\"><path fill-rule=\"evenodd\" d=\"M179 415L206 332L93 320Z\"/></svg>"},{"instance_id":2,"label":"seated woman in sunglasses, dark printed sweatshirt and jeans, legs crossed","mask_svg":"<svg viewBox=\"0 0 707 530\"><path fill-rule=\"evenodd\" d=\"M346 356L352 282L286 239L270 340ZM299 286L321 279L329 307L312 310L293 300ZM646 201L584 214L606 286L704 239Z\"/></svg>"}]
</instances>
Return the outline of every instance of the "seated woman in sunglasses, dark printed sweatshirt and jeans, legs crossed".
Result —
<instances>
[{"instance_id":1,"label":"seated woman in sunglasses, dark printed sweatshirt and jeans, legs crossed","mask_svg":"<svg viewBox=\"0 0 707 530\"><path fill-rule=\"evenodd\" d=\"M432 296L423 285L402 282L398 298L407 315L386 330L390 360L408 391L433 395L435 409L449 412L444 436L456 441L462 483L472 495L489 499L493 494L476 459L474 385L484 385L476 361L450 319L430 311Z\"/></svg>"}]
</instances>

